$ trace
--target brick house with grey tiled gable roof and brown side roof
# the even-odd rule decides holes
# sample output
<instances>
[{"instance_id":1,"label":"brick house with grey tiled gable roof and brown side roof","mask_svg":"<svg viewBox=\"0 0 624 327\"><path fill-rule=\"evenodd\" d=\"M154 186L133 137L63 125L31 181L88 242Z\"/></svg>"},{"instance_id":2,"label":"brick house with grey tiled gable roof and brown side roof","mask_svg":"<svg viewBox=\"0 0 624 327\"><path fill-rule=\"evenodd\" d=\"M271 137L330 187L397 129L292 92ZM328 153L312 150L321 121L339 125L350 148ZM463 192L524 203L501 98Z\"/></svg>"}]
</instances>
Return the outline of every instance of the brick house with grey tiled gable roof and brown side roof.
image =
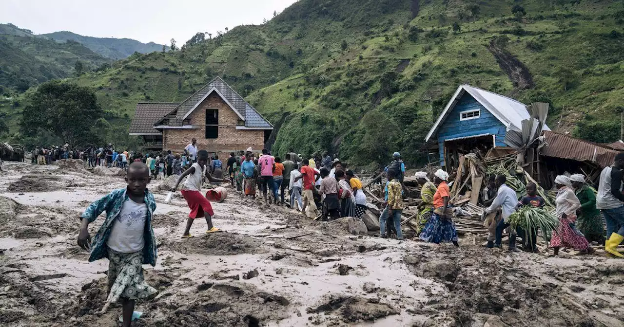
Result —
<instances>
[{"instance_id":1,"label":"brick house with grey tiled gable roof and brown side roof","mask_svg":"<svg viewBox=\"0 0 624 327\"><path fill-rule=\"evenodd\" d=\"M222 158L230 152L264 148L273 125L216 77L182 103L137 103L130 135L145 147L182 153L192 138L199 149Z\"/></svg>"}]
</instances>

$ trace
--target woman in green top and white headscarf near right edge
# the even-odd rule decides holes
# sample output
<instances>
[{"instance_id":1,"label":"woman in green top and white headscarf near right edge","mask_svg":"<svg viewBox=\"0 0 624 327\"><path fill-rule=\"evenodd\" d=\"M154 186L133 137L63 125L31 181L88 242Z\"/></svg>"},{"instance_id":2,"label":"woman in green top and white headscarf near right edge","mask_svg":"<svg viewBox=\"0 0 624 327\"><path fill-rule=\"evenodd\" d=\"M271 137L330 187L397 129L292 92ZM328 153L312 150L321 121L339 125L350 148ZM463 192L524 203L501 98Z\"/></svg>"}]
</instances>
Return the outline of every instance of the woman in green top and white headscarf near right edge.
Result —
<instances>
[{"instance_id":1,"label":"woman in green top and white headscarf near right edge","mask_svg":"<svg viewBox=\"0 0 624 327\"><path fill-rule=\"evenodd\" d=\"M570 176L570 182L581 207L577 210L578 219L576 222L578 230L580 230L588 242L596 241L599 244L605 244L605 230L602 227L602 216L600 211L596 209L596 194L585 184L585 175L573 174Z\"/></svg>"}]
</instances>

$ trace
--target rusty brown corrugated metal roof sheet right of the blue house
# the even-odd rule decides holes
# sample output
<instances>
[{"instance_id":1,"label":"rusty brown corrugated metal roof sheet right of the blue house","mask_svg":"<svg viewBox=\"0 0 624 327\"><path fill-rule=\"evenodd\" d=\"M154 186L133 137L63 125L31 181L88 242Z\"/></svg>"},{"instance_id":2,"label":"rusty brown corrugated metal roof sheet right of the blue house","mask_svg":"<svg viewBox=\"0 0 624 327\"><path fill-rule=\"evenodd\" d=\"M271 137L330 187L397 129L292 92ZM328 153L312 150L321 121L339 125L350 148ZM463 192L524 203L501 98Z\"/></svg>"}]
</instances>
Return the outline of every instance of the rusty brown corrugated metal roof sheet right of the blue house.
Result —
<instances>
[{"instance_id":1,"label":"rusty brown corrugated metal roof sheet right of the blue house","mask_svg":"<svg viewBox=\"0 0 624 327\"><path fill-rule=\"evenodd\" d=\"M547 146L540 149L540 155L542 156L587 161L605 168L613 164L613 159L618 154L618 151L597 143L553 133L552 131L544 131L543 135Z\"/></svg>"}]
</instances>

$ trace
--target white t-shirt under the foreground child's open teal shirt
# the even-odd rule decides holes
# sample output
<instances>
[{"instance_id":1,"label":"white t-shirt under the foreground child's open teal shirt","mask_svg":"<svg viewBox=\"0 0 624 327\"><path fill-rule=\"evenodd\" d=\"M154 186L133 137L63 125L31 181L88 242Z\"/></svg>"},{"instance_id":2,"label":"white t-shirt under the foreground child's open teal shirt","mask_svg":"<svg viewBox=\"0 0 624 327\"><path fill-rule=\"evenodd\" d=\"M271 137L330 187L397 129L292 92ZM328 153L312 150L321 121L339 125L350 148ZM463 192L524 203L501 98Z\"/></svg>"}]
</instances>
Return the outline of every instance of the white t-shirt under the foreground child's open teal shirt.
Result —
<instances>
[{"instance_id":1,"label":"white t-shirt under the foreground child's open teal shirt","mask_svg":"<svg viewBox=\"0 0 624 327\"><path fill-rule=\"evenodd\" d=\"M124 254L139 252L145 246L144 232L147 204L128 199L115 218L106 245Z\"/></svg>"}]
</instances>

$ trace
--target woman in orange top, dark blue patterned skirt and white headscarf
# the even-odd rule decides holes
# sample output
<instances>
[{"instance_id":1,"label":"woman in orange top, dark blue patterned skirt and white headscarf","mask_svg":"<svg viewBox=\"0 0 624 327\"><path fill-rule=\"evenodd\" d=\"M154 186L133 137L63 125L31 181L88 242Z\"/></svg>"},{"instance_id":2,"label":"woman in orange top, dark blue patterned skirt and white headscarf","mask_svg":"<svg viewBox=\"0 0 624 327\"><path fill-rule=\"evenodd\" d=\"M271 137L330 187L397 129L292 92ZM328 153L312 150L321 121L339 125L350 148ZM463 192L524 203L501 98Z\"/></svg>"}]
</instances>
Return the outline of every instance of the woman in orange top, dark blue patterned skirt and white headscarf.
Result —
<instances>
[{"instance_id":1,"label":"woman in orange top, dark blue patterned skirt and white headscarf","mask_svg":"<svg viewBox=\"0 0 624 327\"><path fill-rule=\"evenodd\" d=\"M436 244L453 242L459 247L457 229L455 229L455 223L452 220L452 209L447 207L451 199L451 190L447 184L449 174L438 169L434 175L436 176L434 182L438 184L437 191L433 196L435 209L421 232L421 239Z\"/></svg>"}]
</instances>

